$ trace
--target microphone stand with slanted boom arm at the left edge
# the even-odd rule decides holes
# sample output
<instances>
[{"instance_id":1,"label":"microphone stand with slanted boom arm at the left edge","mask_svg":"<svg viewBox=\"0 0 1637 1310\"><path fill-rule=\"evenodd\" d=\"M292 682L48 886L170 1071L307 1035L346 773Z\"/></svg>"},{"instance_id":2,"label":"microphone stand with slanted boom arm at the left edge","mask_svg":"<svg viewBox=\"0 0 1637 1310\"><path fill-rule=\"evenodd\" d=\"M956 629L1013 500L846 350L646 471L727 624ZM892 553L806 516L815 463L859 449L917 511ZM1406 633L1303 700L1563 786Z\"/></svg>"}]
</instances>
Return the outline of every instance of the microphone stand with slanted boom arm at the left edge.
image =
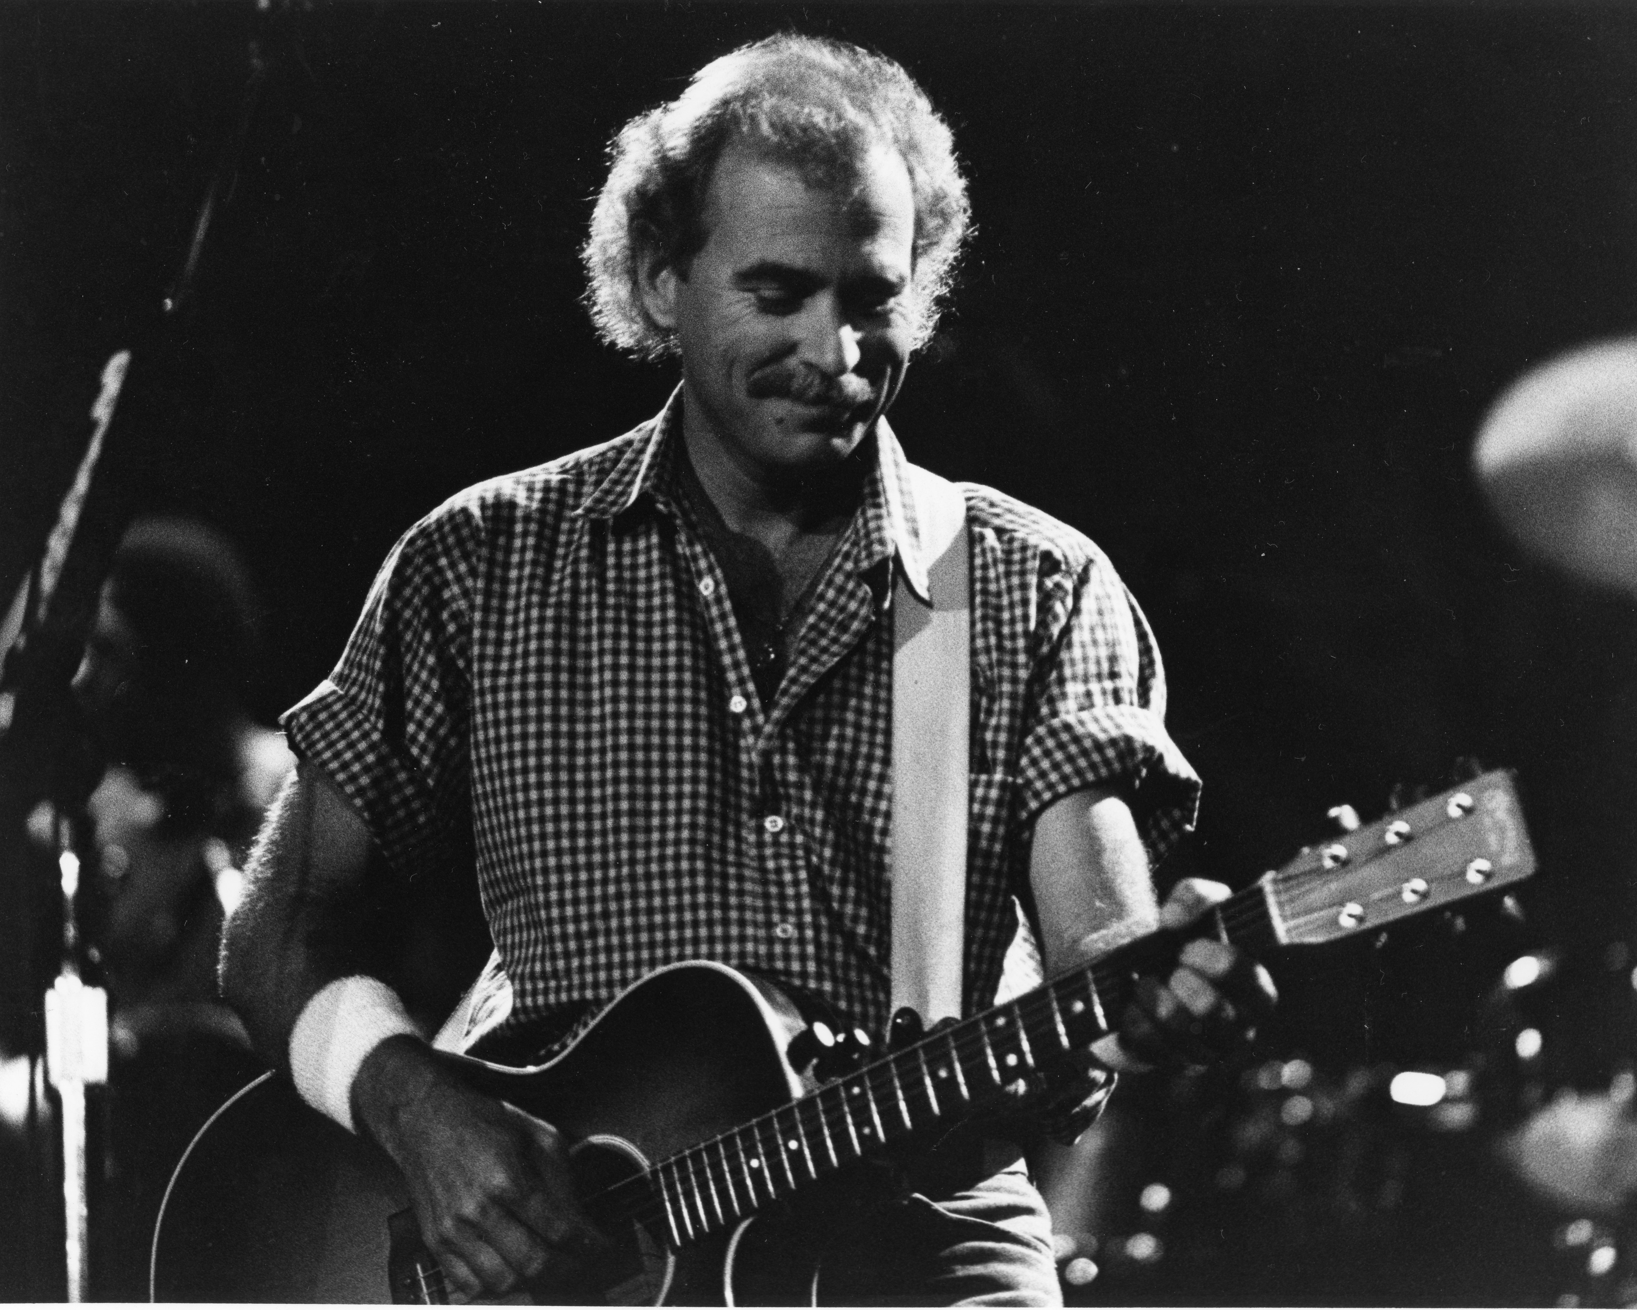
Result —
<instances>
[{"instance_id":1,"label":"microphone stand with slanted boom arm at the left edge","mask_svg":"<svg viewBox=\"0 0 1637 1310\"><path fill-rule=\"evenodd\" d=\"M190 305L206 236L237 174L244 142L267 82L260 46L250 43L250 75L237 124L221 152L193 223L187 257L160 305L160 328L174 324ZM157 339L159 331L152 332ZM20 855L25 888L25 925L31 955L56 953L56 978L44 986L44 960L33 973L44 991L44 1033L34 1030L33 1064L44 1038L46 1071L61 1102L62 1202L65 1218L67 1299L82 1302L90 1284L87 1087L108 1081L108 994L85 982L85 943L79 922L80 860L77 838L88 832L85 802L100 775L83 725L72 709L69 684L97 614L98 596L113 553L134 513L129 473L144 449L157 442L152 422L121 422L113 429L121 396L146 398L159 372L149 349L116 350L101 373L92 406L95 429L80 460L41 560L29 570L10 611L0 621L0 842ZM128 406L129 409L129 401ZM110 442L110 432L113 440ZM25 837L26 833L26 837ZM28 881L34 878L28 843L54 856L61 884L61 950L43 951L38 914ZM21 850L20 850L21 847ZM36 856L38 860L38 856ZM36 991L36 996L39 991Z\"/></svg>"}]
</instances>

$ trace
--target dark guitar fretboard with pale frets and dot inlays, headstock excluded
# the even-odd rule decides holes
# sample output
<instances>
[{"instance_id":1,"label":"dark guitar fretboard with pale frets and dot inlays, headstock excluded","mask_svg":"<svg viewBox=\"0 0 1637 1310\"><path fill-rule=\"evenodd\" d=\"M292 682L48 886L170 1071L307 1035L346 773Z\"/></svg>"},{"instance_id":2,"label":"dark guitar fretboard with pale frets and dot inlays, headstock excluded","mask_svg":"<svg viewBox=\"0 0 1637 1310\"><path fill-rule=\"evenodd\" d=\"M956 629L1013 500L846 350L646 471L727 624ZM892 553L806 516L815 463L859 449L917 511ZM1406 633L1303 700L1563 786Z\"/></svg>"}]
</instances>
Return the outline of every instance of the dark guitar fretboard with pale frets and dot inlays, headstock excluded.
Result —
<instances>
[{"instance_id":1,"label":"dark guitar fretboard with pale frets and dot inlays, headstock excluded","mask_svg":"<svg viewBox=\"0 0 1637 1310\"><path fill-rule=\"evenodd\" d=\"M1251 950L1274 942L1259 884L1218 906L1208 924L1221 940ZM588 1204L599 1218L634 1218L673 1248L686 1246L889 1145L992 1104L1020 1077L1107 1037L1136 979L1162 973L1182 940L1161 932L1128 942L660 1161Z\"/></svg>"}]
</instances>

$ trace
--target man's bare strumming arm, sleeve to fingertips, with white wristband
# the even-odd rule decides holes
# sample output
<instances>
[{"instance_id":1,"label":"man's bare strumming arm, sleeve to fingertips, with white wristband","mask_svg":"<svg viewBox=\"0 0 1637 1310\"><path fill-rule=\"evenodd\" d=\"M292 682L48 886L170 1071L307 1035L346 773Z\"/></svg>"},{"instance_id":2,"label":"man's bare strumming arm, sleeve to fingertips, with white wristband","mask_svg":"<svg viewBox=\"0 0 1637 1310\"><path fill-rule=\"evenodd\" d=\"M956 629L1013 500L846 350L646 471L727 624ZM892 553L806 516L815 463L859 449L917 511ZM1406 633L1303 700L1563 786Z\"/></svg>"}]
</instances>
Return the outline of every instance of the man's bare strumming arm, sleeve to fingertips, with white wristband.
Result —
<instances>
[{"instance_id":1,"label":"man's bare strumming arm, sleeve to fingertips, with white wristband","mask_svg":"<svg viewBox=\"0 0 1637 1310\"><path fill-rule=\"evenodd\" d=\"M273 804L247 861L244 902L224 927L224 996L262 1056L290 1068L309 1104L367 1133L398 1164L457 1299L506 1297L535 1279L573 1284L602 1240L575 1199L557 1130L440 1066L426 1041L408 1035L414 1025L385 984L339 981L362 958L350 933L370 853L368 829L345 796L303 763ZM298 1028L314 1022L324 992L332 992L332 1017L318 1028L327 1035L309 1038L298 1061L291 1037L301 1045ZM393 1010L403 1022L395 1025ZM383 1032L399 1035L372 1040L370 1022L383 1014ZM336 1037L337 1025L352 1032ZM350 1087L327 1086L336 1051L360 1041Z\"/></svg>"}]
</instances>

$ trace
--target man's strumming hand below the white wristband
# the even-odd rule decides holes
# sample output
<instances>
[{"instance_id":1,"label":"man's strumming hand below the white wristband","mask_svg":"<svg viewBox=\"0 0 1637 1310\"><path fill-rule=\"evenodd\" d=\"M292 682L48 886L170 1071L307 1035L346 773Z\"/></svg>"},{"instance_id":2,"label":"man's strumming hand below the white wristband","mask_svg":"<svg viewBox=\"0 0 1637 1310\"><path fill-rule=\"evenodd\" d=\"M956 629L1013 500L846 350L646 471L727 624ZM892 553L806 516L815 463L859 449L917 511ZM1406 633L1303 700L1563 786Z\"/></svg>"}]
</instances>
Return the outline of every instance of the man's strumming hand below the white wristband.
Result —
<instances>
[{"instance_id":1,"label":"man's strumming hand below the white wristband","mask_svg":"<svg viewBox=\"0 0 1637 1310\"><path fill-rule=\"evenodd\" d=\"M352 1112L403 1172L457 1299L578 1285L604 1246L575 1197L561 1135L471 1091L419 1040L393 1037L365 1058Z\"/></svg>"}]
</instances>

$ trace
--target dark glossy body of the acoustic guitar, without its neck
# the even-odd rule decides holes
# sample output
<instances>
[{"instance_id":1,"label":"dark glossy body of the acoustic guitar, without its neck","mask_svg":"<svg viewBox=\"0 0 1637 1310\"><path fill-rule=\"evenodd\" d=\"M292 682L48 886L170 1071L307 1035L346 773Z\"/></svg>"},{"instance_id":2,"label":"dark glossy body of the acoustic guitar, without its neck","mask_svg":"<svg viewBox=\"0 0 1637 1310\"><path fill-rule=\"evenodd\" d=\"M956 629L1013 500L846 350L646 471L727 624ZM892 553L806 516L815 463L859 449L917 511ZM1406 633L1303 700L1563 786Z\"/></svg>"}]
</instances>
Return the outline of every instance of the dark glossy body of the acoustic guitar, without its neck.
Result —
<instances>
[{"instance_id":1,"label":"dark glossy body of the acoustic guitar, without its neck","mask_svg":"<svg viewBox=\"0 0 1637 1310\"><path fill-rule=\"evenodd\" d=\"M553 1123L586 1194L799 1095L784 1050L800 1027L769 984L689 963L648 974L539 1068L445 1058L473 1086ZM385 1153L267 1074L205 1125L177 1166L154 1233L154 1299L390 1302L388 1218L408 1204ZM807 1302L812 1266L786 1226L760 1215L673 1256L663 1233L629 1225L599 1285L535 1294L570 1303Z\"/></svg>"}]
</instances>

